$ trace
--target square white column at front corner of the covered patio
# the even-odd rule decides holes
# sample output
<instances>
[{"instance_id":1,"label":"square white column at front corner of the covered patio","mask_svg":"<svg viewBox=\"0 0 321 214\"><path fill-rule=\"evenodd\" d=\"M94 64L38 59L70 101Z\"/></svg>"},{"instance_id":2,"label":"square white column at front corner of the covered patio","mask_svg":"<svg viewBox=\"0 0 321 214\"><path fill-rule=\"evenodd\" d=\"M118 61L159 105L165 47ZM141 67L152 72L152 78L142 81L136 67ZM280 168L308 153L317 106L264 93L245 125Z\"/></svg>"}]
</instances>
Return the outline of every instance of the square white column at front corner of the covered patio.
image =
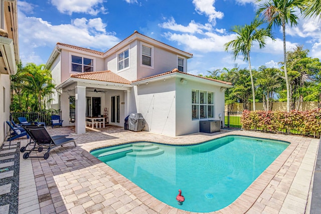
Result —
<instances>
[{"instance_id":1,"label":"square white column at front corner of the covered patio","mask_svg":"<svg viewBox=\"0 0 321 214\"><path fill-rule=\"evenodd\" d=\"M76 134L86 133L86 86L76 86Z\"/></svg>"}]
</instances>

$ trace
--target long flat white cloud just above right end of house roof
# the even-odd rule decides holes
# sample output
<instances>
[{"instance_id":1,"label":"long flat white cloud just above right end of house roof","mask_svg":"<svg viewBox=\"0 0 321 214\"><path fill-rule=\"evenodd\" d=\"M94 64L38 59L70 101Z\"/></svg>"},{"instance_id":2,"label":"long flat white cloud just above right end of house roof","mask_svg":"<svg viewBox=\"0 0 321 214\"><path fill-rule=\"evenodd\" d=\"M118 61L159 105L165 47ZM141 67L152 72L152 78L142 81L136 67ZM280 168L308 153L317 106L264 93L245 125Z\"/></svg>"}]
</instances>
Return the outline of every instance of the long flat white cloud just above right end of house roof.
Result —
<instances>
[{"instance_id":1,"label":"long flat white cloud just above right end of house roof","mask_svg":"<svg viewBox=\"0 0 321 214\"><path fill-rule=\"evenodd\" d=\"M188 26L183 26L183 25L178 25L174 18L172 17L171 19L168 20L168 22L162 23L158 25L159 27L169 29L172 31L179 31L183 33L198 33L201 34L203 33L203 30L210 31L212 29L212 26L210 24L199 24L196 23L194 20L192 20Z\"/></svg>"}]
</instances>

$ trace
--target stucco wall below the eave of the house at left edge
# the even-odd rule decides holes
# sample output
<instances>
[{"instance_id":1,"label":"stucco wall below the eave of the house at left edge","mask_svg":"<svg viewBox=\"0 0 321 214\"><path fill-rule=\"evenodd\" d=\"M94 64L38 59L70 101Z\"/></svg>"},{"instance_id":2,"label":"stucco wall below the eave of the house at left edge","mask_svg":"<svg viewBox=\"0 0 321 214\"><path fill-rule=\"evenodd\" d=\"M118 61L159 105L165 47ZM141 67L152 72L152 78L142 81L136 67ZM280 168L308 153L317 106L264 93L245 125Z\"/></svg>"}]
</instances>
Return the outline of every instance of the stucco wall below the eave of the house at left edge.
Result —
<instances>
[{"instance_id":1,"label":"stucco wall below the eave of the house at left edge","mask_svg":"<svg viewBox=\"0 0 321 214\"><path fill-rule=\"evenodd\" d=\"M10 75L0 74L0 145L4 142L10 117L10 103L11 103L11 90L10 90Z\"/></svg>"}]
</instances>

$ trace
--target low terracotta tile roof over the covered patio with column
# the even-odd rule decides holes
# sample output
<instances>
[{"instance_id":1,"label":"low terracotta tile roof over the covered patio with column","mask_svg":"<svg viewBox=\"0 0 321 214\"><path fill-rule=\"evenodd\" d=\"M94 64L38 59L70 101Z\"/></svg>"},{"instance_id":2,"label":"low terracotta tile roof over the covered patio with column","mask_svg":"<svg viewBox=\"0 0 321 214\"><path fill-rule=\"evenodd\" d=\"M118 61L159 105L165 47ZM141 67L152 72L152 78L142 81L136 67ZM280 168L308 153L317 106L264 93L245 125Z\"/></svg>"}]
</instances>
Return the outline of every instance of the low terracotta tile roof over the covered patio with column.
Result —
<instances>
[{"instance_id":1,"label":"low terracotta tile roof over the covered patio with column","mask_svg":"<svg viewBox=\"0 0 321 214\"><path fill-rule=\"evenodd\" d=\"M111 71L93 71L86 72L80 74L71 74L70 77L87 79L87 80L98 80L98 81L106 81L112 83L122 83L122 84L130 84L129 80L111 72Z\"/></svg>"}]
</instances>

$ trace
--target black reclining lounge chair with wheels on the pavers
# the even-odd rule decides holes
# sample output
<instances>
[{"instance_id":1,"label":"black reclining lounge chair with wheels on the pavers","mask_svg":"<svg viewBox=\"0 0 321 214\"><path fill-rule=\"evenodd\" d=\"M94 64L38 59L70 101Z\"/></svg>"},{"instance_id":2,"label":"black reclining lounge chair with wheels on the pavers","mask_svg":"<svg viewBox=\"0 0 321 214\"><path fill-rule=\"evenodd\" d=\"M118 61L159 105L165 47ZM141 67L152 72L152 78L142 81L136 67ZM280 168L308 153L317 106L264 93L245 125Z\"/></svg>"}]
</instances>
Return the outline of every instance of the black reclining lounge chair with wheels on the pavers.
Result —
<instances>
[{"instance_id":1,"label":"black reclining lounge chair with wheels on the pavers","mask_svg":"<svg viewBox=\"0 0 321 214\"><path fill-rule=\"evenodd\" d=\"M74 142L75 146L76 146L76 142L75 139L73 138L59 138L54 140L53 137L50 136L50 134L48 133L46 127L44 126L26 126L24 127L26 130L28 130L28 133L30 134L30 136L34 139L34 146L32 149L28 150L29 152L24 153L23 158L27 159L28 157L37 157L39 158L39 156L30 156L30 153L32 151L35 151L36 148L38 150L38 152L42 152L43 149L47 149L46 153L44 154L44 159L48 159L49 157L49 152L51 149L57 147L57 146L62 146L66 143L69 142Z\"/></svg>"}]
</instances>

